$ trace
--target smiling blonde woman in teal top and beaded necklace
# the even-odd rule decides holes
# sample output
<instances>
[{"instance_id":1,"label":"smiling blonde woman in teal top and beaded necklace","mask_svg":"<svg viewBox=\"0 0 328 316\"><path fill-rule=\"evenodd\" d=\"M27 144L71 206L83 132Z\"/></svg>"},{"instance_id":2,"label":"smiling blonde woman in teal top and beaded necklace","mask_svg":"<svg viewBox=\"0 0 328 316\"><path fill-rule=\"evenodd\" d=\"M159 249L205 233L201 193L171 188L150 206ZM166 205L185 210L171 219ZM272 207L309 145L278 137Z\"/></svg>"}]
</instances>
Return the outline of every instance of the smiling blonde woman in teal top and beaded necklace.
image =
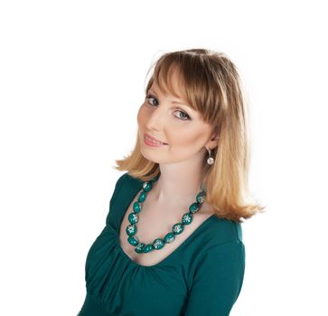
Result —
<instances>
[{"instance_id":1,"label":"smiling blonde woman in teal top and beaded necklace","mask_svg":"<svg viewBox=\"0 0 328 316\"><path fill-rule=\"evenodd\" d=\"M229 315L245 271L248 134L239 74L220 52L165 53L89 249L80 316Z\"/></svg>"}]
</instances>

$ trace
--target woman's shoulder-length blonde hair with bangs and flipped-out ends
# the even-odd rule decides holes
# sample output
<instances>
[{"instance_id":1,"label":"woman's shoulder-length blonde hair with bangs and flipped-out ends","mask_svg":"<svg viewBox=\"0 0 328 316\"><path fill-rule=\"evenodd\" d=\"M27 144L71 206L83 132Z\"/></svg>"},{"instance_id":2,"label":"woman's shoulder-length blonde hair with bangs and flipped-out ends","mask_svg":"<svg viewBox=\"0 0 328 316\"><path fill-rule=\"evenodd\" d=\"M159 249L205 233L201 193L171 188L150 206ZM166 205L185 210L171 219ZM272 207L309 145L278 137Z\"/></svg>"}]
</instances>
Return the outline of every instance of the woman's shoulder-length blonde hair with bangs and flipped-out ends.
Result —
<instances>
[{"instance_id":1,"label":"woman's shoulder-length blonde hair with bangs and flipped-out ends","mask_svg":"<svg viewBox=\"0 0 328 316\"><path fill-rule=\"evenodd\" d=\"M204 157L207 203L218 217L236 222L262 211L264 207L248 200L248 122L236 66L224 53L205 49L166 52L151 69L154 65L145 93L155 81L164 91L168 89L177 96L169 80L170 70L177 67L186 100L213 126L219 137L218 146L211 150L214 163L209 165ZM134 150L116 163L115 169L127 171L141 181L149 181L160 172L158 163L145 159L140 153L138 135Z\"/></svg>"}]
</instances>

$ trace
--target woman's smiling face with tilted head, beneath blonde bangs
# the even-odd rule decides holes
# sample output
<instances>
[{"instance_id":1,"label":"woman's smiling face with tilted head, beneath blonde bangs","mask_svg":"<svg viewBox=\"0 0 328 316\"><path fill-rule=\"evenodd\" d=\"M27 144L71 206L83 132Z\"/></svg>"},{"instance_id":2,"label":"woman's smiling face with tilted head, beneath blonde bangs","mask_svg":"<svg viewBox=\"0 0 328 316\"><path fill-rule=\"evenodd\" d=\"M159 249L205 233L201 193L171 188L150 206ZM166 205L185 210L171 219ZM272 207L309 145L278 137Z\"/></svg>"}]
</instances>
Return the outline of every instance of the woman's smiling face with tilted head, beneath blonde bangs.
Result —
<instances>
[{"instance_id":1,"label":"woman's smiling face with tilted head, beneath blonde bangs","mask_svg":"<svg viewBox=\"0 0 328 316\"><path fill-rule=\"evenodd\" d=\"M193 158L202 161L206 148L214 148L211 141L211 125L201 120L201 113L188 106L178 85L178 73L173 70L171 83L179 98L170 92L164 94L153 83L145 96L145 102L137 114L140 150L146 159L154 163L178 163ZM145 135L155 137L165 144L151 144Z\"/></svg>"}]
</instances>

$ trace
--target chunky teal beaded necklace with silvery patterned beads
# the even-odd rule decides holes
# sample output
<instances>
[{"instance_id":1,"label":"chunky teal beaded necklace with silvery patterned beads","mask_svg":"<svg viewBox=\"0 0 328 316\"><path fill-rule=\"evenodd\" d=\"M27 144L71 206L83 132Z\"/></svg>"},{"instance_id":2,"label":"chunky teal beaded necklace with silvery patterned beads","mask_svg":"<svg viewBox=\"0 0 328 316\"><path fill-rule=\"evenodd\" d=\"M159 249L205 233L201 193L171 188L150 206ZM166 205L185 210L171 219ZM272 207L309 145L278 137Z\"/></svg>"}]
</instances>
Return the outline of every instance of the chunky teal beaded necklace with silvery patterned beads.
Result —
<instances>
[{"instance_id":1,"label":"chunky teal beaded necklace with silvery patterned beads","mask_svg":"<svg viewBox=\"0 0 328 316\"><path fill-rule=\"evenodd\" d=\"M202 187L201 192L196 196L196 202L192 203L189 207L189 212L183 214L183 218L180 223L173 225L172 231L167 233L164 238L156 238L152 244L145 245L139 242L136 235L136 223L139 219L138 213L142 209L142 204L145 201L147 192L151 191L153 184L159 178L159 174L150 181L143 182L143 191L139 194L137 201L133 204L133 212L128 215L128 221L130 225L127 226L127 241L130 245L135 246L137 254L148 253L153 250L159 250L164 247L165 244L170 244L175 239L175 235L179 235L183 232L184 225L189 225L192 222L192 215L195 214L200 208L201 203L205 200L206 188Z\"/></svg>"}]
</instances>

